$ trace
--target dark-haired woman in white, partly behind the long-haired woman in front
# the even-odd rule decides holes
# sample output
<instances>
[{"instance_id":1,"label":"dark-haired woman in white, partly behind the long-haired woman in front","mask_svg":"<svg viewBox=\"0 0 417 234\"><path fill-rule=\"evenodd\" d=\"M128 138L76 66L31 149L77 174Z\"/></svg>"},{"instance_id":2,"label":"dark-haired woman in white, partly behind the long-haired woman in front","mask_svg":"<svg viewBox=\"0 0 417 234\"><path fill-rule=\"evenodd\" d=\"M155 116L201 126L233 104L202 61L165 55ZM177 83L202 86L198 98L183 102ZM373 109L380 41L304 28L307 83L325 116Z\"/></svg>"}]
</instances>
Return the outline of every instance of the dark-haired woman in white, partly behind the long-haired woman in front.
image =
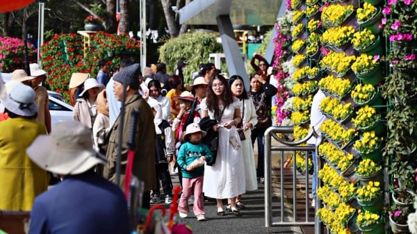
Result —
<instances>
[{"instance_id":1,"label":"dark-haired woman in white, partly behind the long-haired woman in front","mask_svg":"<svg viewBox=\"0 0 417 234\"><path fill-rule=\"evenodd\" d=\"M256 181L256 166L254 158L254 148L250 139L251 129L258 123L254 102L251 97L248 97L245 90L243 78L240 76L231 76L229 79L229 88L231 94L240 100L240 112L242 113L242 122L238 127L243 129L245 140L242 142L243 150L243 164L245 165L246 191L258 189L258 182ZM236 206L238 209L244 209L245 205L240 199L240 195L236 197Z\"/></svg>"}]
</instances>

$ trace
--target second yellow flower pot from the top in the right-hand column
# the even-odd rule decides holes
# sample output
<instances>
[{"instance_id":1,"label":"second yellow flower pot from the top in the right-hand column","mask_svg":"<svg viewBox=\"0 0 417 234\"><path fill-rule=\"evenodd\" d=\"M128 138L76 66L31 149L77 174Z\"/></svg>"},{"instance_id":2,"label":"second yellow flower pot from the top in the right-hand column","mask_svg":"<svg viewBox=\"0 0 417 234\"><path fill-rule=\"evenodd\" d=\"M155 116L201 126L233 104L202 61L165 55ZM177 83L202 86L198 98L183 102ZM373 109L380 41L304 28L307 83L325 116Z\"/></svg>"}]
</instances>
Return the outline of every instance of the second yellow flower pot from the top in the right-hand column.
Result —
<instances>
[{"instance_id":1,"label":"second yellow flower pot from the top in the right-hand column","mask_svg":"<svg viewBox=\"0 0 417 234\"><path fill-rule=\"evenodd\" d=\"M375 54L382 55L382 45L379 35L373 35L369 29L364 28L362 31L354 33L352 44L354 49L359 51L359 53L366 53L368 56L375 56Z\"/></svg>"}]
</instances>

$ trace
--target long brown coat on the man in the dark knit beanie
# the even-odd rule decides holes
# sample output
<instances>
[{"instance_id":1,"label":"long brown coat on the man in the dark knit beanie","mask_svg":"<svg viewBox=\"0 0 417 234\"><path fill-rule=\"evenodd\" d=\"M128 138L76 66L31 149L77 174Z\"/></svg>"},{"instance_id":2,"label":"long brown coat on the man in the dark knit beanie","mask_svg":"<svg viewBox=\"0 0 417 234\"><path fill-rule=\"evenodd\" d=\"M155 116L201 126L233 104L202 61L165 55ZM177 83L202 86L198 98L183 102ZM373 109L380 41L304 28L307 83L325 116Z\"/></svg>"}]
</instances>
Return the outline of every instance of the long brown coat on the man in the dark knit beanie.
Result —
<instances>
[{"instance_id":1,"label":"long brown coat on the man in the dark knit beanie","mask_svg":"<svg viewBox=\"0 0 417 234\"><path fill-rule=\"evenodd\" d=\"M104 178L115 182L117 147L122 147L122 167L120 176L120 187L124 188L124 173L127 163L127 141L131 128L131 112L139 111L139 119L136 124L136 150L133 162L133 175L140 181L145 182L145 191L154 190L156 187L154 144L156 139L154 115L147 101L142 99L140 94L134 94L125 104L123 140L118 142L120 133L120 115L109 132L108 148L106 158L107 165L104 167Z\"/></svg>"}]
</instances>

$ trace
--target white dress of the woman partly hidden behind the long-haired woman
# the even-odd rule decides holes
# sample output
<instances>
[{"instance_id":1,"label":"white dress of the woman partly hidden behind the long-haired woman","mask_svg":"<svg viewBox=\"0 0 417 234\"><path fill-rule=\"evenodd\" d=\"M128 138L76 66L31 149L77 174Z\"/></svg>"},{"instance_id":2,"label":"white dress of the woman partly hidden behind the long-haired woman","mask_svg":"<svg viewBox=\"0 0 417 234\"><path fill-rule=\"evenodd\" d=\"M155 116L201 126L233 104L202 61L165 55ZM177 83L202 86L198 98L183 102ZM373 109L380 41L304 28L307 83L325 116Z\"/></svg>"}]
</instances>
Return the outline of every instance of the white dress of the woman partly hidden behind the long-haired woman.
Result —
<instances>
[{"instance_id":1,"label":"white dress of the woman partly hidden behind the long-haired woman","mask_svg":"<svg viewBox=\"0 0 417 234\"><path fill-rule=\"evenodd\" d=\"M251 122L252 126L255 126L258 123L258 119L256 116L254 101L252 101L252 98L250 97L249 99L243 99L240 103L240 113L242 113L243 123L242 126L244 126L248 122ZM243 108L243 105L245 105L245 108ZM254 148L252 147L252 141L250 139L251 132L252 131L250 129L247 129L247 131L244 132L246 140L242 140L243 162L245 165L246 191L258 189L258 181L256 181Z\"/></svg>"}]
</instances>

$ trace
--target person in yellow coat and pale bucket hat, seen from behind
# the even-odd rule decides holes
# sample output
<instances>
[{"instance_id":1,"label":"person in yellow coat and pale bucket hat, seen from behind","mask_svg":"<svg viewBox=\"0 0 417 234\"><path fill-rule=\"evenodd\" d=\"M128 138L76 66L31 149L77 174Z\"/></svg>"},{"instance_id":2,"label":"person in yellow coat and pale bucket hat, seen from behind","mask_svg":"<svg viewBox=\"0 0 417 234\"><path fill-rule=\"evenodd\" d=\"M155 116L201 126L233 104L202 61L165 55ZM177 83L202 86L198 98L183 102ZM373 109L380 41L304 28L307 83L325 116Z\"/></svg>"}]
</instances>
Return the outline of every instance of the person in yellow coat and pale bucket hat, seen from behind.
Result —
<instances>
[{"instance_id":1,"label":"person in yellow coat and pale bucket hat, seen from behind","mask_svg":"<svg viewBox=\"0 0 417 234\"><path fill-rule=\"evenodd\" d=\"M49 174L28 158L26 148L47 128L36 121L35 92L28 85L19 83L1 103L9 118L0 122L0 210L31 210L47 190Z\"/></svg>"}]
</instances>

